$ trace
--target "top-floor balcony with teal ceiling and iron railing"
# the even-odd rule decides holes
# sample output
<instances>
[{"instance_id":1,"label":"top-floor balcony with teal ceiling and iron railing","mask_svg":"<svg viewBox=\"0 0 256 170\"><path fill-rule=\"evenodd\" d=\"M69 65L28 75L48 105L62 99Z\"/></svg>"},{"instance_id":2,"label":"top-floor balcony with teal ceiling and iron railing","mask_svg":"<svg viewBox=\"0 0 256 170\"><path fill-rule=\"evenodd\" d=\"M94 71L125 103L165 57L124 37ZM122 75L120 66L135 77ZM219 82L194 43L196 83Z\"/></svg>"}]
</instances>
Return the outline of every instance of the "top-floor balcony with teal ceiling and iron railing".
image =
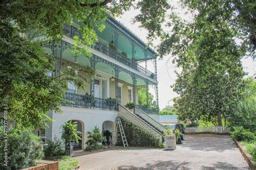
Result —
<instances>
[{"instance_id":1,"label":"top-floor balcony with teal ceiling and iron railing","mask_svg":"<svg viewBox=\"0 0 256 170\"><path fill-rule=\"evenodd\" d=\"M109 20L105 25L106 28L103 32L96 31L98 35L98 42L92 48L120 63L123 63L129 68L137 70L139 73L156 80L156 73L153 73L149 69L139 65L139 62L146 63L148 60L156 60L156 56L153 54L152 49L150 51L150 48L146 48L145 44L143 45L142 42L138 42L139 39L134 35L133 38L131 38L127 31L125 32L124 28L119 31L114 29L116 27L113 27ZM73 38L74 36L82 38L82 34L79 32L79 26L81 26L79 23L65 25L65 36L69 38ZM155 64L156 63L154 62L154 65Z\"/></svg>"}]
</instances>

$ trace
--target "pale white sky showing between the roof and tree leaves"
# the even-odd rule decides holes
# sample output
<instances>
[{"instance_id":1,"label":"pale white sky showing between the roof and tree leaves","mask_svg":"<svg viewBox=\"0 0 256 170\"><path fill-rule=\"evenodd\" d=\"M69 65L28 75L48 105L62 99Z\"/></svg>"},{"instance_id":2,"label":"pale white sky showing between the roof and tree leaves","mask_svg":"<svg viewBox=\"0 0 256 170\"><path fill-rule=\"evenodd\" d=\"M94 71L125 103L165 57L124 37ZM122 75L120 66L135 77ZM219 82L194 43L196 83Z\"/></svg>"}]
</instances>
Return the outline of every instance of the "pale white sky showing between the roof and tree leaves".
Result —
<instances>
[{"instance_id":1,"label":"pale white sky showing between the roof and tree leaves","mask_svg":"<svg viewBox=\"0 0 256 170\"><path fill-rule=\"evenodd\" d=\"M176 3L176 1L174 1ZM177 6L177 3L174 4ZM179 12L184 19L189 19L190 16L185 14L185 11L177 6L176 12ZM130 10L120 18L116 18L119 22L123 23L126 27L128 27L134 34L136 34L140 39L144 42L146 40L147 31L144 29L139 28L139 23L132 24L131 19L138 14L137 10ZM154 41L154 46L158 45L160 41ZM157 60L157 76L158 76L158 93L159 93L159 107L163 109L166 105L172 105L172 98L177 97L172 88L170 87L174 84L175 80L177 79L174 70L180 70L176 67L175 64L172 63L171 55L164 56L162 60ZM255 60L253 61L252 58L242 59L242 66L244 67L245 72L248 72L247 76L253 76L256 73L256 65ZM147 67L149 70L154 70L152 64L148 64ZM154 91L151 88L151 93L154 95Z\"/></svg>"}]
</instances>

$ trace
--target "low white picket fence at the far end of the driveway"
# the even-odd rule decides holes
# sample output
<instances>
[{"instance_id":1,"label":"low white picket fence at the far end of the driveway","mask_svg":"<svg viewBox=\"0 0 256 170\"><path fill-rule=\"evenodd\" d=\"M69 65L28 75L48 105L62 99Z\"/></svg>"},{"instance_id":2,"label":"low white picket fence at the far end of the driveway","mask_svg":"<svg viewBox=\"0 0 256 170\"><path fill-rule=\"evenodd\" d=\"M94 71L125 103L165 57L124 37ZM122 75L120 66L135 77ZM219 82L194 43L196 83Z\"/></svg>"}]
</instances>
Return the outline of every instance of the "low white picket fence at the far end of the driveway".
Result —
<instances>
[{"instance_id":1,"label":"low white picket fence at the far end of the driveway","mask_svg":"<svg viewBox=\"0 0 256 170\"><path fill-rule=\"evenodd\" d=\"M230 128L223 126L215 127L187 127L186 133L197 133L197 132L215 132L215 133L230 133Z\"/></svg>"}]
</instances>

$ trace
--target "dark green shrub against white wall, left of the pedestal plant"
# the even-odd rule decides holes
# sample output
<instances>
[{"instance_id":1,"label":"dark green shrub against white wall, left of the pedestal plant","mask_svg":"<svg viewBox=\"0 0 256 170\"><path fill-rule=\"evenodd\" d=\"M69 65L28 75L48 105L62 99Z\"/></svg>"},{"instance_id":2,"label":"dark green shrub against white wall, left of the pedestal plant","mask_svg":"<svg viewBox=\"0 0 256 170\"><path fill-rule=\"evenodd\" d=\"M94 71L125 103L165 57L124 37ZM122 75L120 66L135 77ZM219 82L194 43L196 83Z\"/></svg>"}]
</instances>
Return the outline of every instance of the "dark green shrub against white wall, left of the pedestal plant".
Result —
<instances>
[{"instance_id":1,"label":"dark green shrub against white wall, left of the pedestal plant","mask_svg":"<svg viewBox=\"0 0 256 170\"><path fill-rule=\"evenodd\" d=\"M47 145L44 147L45 157L56 157L65 154L65 148L63 148L62 140L54 138L54 140L48 140Z\"/></svg>"}]
</instances>

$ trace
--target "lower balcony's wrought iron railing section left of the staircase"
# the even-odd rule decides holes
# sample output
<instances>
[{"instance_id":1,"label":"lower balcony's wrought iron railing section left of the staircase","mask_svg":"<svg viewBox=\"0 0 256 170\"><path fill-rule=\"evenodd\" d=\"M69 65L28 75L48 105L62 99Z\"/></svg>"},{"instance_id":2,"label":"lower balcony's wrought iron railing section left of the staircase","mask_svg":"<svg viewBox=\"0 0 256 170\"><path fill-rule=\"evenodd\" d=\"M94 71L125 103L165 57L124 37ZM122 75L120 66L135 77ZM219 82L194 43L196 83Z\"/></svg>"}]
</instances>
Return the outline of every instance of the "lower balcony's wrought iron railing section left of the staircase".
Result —
<instances>
[{"instance_id":1,"label":"lower balcony's wrought iron railing section left of the staircase","mask_svg":"<svg viewBox=\"0 0 256 170\"><path fill-rule=\"evenodd\" d=\"M68 92L65 93L64 101L61 104L71 107L117 110L117 104L114 100L97 98L87 95L79 95Z\"/></svg>"}]
</instances>

